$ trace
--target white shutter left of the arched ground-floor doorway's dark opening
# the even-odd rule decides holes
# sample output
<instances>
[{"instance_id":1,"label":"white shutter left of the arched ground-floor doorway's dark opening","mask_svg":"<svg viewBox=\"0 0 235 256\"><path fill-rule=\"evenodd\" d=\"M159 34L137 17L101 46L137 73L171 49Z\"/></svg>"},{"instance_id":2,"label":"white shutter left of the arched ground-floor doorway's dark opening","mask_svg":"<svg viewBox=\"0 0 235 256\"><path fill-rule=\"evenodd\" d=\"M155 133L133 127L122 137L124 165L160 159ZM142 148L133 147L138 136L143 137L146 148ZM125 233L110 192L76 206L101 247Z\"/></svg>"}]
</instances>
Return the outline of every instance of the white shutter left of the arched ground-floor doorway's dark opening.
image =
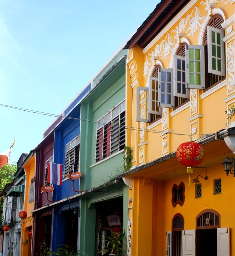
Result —
<instances>
[{"instance_id":1,"label":"white shutter left of the arched ground-floor doorway's dark opening","mask_svg":"<svg viewBox=\"0 0 235 256\"><path fill-rule=\"evenodd\" d=\"M196 231L195 229L183 230L183 243L182 243L182 255L183 256L195 256L196 255Z\"/></svg>"}]
</instances>

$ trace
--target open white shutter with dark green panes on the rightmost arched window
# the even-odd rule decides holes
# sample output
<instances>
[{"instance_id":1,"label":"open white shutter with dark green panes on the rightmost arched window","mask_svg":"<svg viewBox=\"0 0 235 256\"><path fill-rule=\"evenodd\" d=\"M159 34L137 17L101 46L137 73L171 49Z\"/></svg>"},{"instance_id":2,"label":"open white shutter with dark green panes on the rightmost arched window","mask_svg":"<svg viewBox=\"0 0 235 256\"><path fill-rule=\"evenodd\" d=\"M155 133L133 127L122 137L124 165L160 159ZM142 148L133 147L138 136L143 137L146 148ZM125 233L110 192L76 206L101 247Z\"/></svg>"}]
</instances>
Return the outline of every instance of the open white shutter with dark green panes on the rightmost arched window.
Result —
<instances>
[{"instance_id":1,"label":"open white shutter with dark green panes on the rightmost arched window","mask_svg":"<svg viewBox=\"0 0 235 256\"><path fill-rule=\"evenodd\" d=\"M207 27L208 73L225 76L224 30Z\"/></svg>"}]
</instances>

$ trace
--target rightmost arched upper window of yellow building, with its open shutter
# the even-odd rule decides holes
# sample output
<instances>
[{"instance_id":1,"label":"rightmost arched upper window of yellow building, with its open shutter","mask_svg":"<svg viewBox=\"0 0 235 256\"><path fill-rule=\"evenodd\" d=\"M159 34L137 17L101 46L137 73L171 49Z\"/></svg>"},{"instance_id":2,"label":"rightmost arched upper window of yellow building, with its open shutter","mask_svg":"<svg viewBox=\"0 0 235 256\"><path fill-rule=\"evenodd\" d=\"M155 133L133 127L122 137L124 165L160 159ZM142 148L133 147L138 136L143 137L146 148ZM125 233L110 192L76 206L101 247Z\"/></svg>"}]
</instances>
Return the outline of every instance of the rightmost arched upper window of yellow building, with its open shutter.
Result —
<instances>
[{"instance_id":1,"label":"rightmost arched upper window of yellow building, with its open shutter","mask_svg":"<svg viewBox=\"0 0 235 256\"><path fill-rule=\"evenodd\" d=\"M208 21L207 29L204 32L206 88L225 79L225 50L222 40L224 29L221 26L223 21L221 15L214 15Z\"/></svg>"}]
</instances>

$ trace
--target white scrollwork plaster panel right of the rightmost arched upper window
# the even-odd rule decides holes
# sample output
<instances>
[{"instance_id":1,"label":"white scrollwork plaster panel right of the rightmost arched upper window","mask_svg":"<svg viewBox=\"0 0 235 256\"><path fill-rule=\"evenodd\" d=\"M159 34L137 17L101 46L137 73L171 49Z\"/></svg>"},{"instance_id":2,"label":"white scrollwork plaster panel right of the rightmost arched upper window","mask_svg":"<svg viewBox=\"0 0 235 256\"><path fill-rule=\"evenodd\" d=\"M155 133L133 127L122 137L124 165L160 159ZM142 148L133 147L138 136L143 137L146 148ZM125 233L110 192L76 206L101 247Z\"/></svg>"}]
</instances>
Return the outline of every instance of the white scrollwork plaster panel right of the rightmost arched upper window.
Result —
<instances>
[{"instance_id":1,"label":"white scrollwork plaster panel right of the rightmost arched upper window","mask_svg":"<svg viewBox=\"0 0 235 256\"><path fill-rule=\"evenodd\" d=\"M234 91L234 44L229 43L227 48L227 65L228 65L228 92Z\"/></svg>"}]
</instances>

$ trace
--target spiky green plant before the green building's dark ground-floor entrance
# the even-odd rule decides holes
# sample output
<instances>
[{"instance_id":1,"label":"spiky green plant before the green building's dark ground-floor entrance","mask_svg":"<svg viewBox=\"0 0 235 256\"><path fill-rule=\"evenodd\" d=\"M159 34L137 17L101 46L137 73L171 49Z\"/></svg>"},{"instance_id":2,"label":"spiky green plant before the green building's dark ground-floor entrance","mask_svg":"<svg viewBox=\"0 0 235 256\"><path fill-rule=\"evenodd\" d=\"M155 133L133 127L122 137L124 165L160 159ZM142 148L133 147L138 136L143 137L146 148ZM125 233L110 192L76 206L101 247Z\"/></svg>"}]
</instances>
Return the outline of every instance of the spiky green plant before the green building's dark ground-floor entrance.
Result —
<instances>
[{"instance_id":1,"label":"spiky green plant before the green building's dark ground-floor entrance","mask_svg":"<svg viewBox=\"0 0 235 256\"><path fill-rule=\"evenodd\" d=\"M125 231L124 232L119 232L118 234L115 234L114 231L111 231L111 236L106 235L105 236L105 241L107 242L105 244L105 248L100 251L100 253L112 253L115 256L123 256L123 251L120 249L121 243L123 242L125 237Z\"/></svg>"}]
</instances>

